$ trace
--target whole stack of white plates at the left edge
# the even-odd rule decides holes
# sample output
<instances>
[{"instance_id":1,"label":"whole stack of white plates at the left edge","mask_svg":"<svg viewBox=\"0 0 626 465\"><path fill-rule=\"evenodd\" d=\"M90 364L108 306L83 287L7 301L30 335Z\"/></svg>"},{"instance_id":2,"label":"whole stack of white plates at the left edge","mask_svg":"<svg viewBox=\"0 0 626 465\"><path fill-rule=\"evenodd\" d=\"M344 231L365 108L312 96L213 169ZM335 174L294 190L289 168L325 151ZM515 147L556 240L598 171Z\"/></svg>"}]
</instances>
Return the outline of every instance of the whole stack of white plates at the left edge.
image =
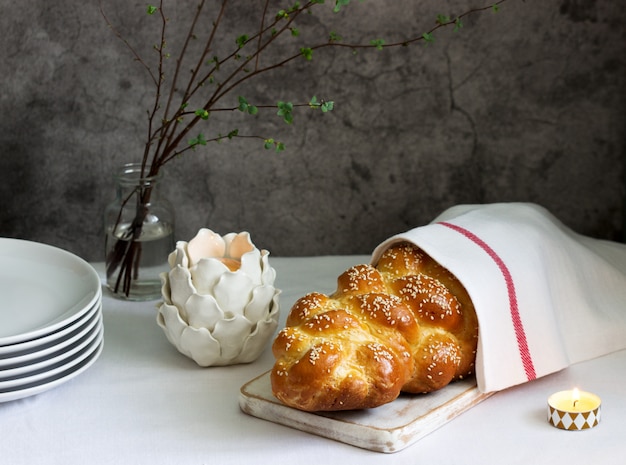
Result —
<instances>
[{"instance_id":1,"label":"whole stack of white plates at the left edge","mask_svg":"<svg viewBox=\"0 0 626 465\"><path fill-rule=\"evenodd\" d=\"M102 352L102 289L84 260L0 238L0 402L38 394Z\"/></svg>"}]
</instances>

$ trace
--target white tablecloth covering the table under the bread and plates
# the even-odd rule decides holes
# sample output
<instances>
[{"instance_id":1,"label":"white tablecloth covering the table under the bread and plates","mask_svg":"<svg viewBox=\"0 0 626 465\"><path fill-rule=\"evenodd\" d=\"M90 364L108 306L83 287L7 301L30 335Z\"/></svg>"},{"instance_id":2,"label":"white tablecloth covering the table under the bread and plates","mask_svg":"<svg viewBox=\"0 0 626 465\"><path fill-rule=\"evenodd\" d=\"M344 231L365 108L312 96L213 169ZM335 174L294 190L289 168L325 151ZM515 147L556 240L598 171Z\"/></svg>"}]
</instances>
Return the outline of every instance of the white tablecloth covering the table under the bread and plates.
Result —
<instances>
[{"instance_id":1,"label":"white tablecloth covering the table under the bread and plates","mask_svg":"<svg viewBox=\"0 0 626 465\"><path fill-rule=\"evenodd\" d=\"M271 257L284 325L293 302L331 292L369 257ZM95 264L100 274L102 264ZM0 404L0 464L622 464L626 351L499 392L395 454L362 450L244 414L239 389L269 370L268 349L249 365L199 368L166 340L155 302L104 297L105 346L72 381ZM602 420L563 431L546 420L548 396L579 387L602 398Z\"/></svg>"}]
</instances>

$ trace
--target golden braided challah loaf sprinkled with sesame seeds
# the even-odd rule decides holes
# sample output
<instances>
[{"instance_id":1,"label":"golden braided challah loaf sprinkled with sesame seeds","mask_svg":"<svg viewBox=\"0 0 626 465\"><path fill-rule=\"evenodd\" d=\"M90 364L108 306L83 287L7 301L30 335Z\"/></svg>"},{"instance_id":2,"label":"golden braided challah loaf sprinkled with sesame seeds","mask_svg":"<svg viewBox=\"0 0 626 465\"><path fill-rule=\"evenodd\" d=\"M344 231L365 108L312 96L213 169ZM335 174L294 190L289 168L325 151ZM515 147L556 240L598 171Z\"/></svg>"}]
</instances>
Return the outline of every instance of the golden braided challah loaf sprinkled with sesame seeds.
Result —
<instances>
[{"instance_id":1,"label":"golden braided challah loaf sprinkled with sesame seeds","mask_svg":"<svg viewBox=\"0 0 626 465\"><path fill-rule=\"evenodd\" d=\"M305 411L377 407L441 389L474 368L478 320L461 283L401 243L292 307L272 350L272 391Z\"/></svg>"}]
</instances>

